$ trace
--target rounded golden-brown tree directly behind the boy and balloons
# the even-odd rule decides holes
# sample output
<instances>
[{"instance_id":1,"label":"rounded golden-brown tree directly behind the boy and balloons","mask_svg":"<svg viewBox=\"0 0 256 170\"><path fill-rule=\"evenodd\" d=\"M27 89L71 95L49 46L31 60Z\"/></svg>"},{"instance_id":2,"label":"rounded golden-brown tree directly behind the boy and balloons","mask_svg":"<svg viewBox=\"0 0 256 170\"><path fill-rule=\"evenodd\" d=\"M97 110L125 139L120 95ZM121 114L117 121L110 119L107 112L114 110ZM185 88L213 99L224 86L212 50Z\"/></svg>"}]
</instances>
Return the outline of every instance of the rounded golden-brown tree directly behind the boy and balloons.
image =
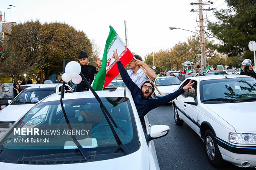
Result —
<instances>
[{"instance_id":1,"label":"rounded golden-brown tree directly behind the boy and balloons","mask_svg":"<svg viewBox=\"0 0 256 170\"><path fill-rule=\"evenodd\" d=\"M38 32L41 47L40 68L45 72L45 79L54 73L62 72L62 60L66 63L77 61L79 51L86 51L92 56L92 44L82 31L77 31L65 23L45 23ZM90 58L94 63L95 58Z\"/></svg>"}]
</instances>

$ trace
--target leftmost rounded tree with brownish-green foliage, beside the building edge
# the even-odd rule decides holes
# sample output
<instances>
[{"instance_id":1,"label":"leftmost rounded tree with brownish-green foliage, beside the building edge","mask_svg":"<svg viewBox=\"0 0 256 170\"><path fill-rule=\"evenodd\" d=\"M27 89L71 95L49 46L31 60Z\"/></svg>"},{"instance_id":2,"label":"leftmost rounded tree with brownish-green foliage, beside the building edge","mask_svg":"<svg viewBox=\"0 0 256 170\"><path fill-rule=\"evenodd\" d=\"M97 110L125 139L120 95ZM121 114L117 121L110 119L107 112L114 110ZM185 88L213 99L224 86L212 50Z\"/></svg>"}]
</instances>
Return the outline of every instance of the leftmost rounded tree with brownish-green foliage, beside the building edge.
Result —
<instances>
[{"instance_id":1,"label":"leftmost rounded tree with brownish-green foliage, beside the building edge","mask_svg":"<svg viewBox=\"0 0 256 170\"><path fill-rule=\"evenodd\" d=\"M33 77L37 72L41 53L38 42L40 27L39 21L29 21L12 27L12 38L0 59L1 73L14 80L21 79L24 74Z\"/></svg>"}]
</instances>

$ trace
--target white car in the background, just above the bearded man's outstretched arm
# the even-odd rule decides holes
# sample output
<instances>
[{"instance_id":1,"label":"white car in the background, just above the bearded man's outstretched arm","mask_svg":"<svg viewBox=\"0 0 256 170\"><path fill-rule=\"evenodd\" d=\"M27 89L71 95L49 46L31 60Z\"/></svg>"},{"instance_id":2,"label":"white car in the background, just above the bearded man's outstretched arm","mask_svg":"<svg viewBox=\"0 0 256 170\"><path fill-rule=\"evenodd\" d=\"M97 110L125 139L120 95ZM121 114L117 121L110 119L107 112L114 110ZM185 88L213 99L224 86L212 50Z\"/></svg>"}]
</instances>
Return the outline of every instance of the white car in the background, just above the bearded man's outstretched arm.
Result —
<instances>
[{"instance_id":1,"label":"white car in the background, just above the bearded man's outstretched arm","mask_svg":"<svg viewBox=\"0 0 256 170\"><path fill-rule=\"evenodd\" d=\"M180 85L180 80L174 76L156 77L156 79L154 80L154 84L161 92L160 95L159 92L155 89L154 96L155 98L160 98L170 93L173 93L173 91Z\"/></svg>"}]
</instances>

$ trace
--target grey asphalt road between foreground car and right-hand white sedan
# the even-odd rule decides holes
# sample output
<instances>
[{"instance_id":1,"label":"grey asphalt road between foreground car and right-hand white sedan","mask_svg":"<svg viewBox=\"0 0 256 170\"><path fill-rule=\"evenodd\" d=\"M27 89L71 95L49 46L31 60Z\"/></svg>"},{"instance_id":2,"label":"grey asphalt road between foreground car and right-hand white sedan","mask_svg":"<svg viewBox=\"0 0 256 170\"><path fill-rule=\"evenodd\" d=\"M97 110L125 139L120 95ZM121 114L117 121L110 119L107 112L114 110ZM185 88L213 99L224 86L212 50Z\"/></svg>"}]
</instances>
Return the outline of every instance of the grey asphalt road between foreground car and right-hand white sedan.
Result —
<instances>
[{"instance_id":1,"label":"grey asphalt road between foreground car and right-hand white sedan","mask_svg":"<svg viewBox=\"0 0 256 170\"><path fill-rule=\"evenodd\" d=\"M173 107L167 104L148 114L151 125L168 125L167 136L154 140L156 154L161 170L253 170L239 168L225 162L220 168L214 168L207 160L204 143L186 123L177 126L173 118Z\"/></svg>"}]
</instances>

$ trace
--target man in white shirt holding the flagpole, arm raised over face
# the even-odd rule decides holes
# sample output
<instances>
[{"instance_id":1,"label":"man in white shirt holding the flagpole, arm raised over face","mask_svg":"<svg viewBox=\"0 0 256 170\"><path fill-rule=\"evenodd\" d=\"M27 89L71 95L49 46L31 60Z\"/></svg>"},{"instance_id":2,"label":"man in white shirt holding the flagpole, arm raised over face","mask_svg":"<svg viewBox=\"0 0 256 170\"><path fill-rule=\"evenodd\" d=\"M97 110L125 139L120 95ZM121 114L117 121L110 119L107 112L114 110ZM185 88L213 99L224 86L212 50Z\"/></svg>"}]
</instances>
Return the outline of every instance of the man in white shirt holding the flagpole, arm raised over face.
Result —
<instances>
[{"instance_id":1,"label":"man in white shirt holding the flagpole, arm raised over face","mask_svg":"<svg viewBox=\"0 0 256 170\"><path fill-rule=\"evenodd\" d=\"M131 60L129 63L129 67L130 70L127 70L128 75L130 76L130 78L132 79L132 81L137 84L138 87L141 87L141 85L145 82L145 81L149 81L150 79L155 79L156 75L154 73L154 71L146 64L142 61L142 58L138 55L134 55L134 57L136 58L136 60ZM140 65L145 68L147 75L149 76L149 78L145 75L145 73L143 72L143 70L140 68ZM121 78L121 76L118 75L119 78Z\"/></svg>"}]
</instances>

